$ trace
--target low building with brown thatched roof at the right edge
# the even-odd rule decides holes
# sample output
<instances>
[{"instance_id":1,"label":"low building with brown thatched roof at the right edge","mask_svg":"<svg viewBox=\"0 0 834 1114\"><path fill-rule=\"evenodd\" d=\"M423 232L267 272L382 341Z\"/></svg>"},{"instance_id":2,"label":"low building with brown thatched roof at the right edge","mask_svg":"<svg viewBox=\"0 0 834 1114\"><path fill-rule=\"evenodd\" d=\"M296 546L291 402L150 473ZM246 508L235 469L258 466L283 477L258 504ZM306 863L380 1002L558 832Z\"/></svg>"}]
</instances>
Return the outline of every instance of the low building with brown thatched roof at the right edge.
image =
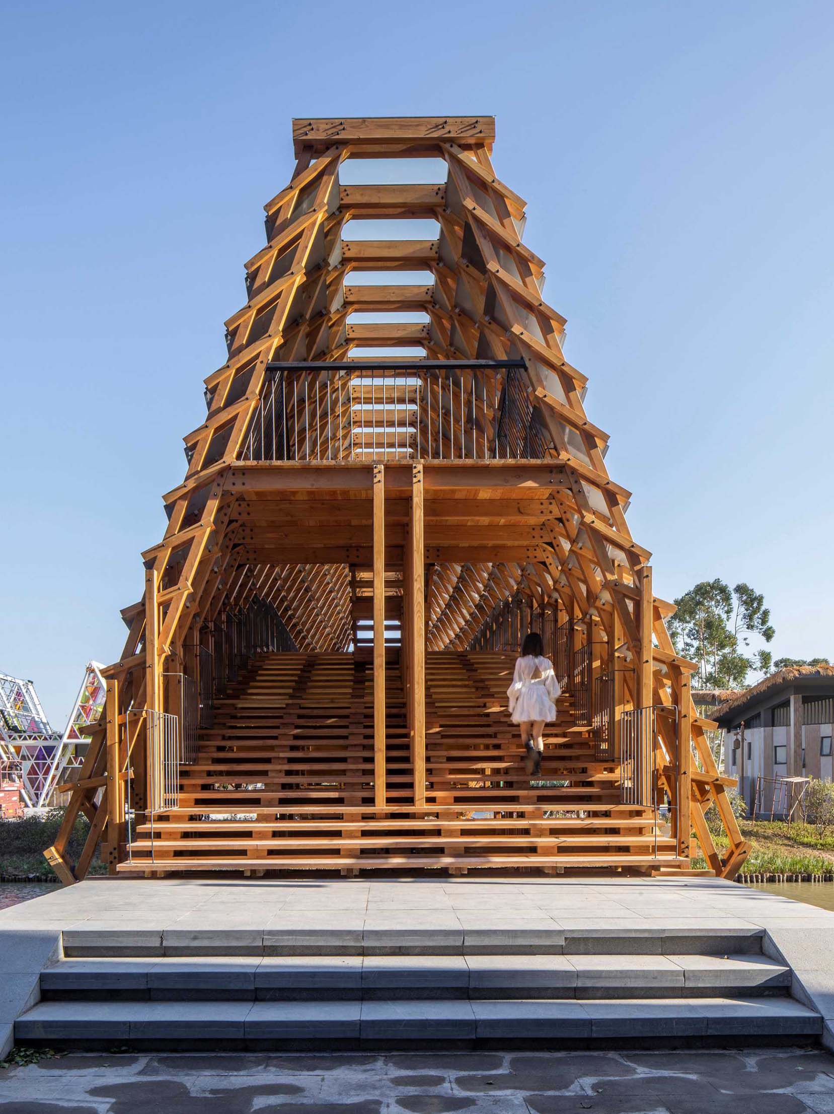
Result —
<instances>
[{"instance_id":1,"label":"low building with brown thatched roof at the right edge","mask_svg":"<svg viewBox=\"0 0 834 1114\"><path fill-rule=\"evenodd\" d=\"M781 670L725 701L713 717L725 733L724 771L738 778L748 812L758 779L832 780L834 666Z\"/></svg>"}]
</instances>

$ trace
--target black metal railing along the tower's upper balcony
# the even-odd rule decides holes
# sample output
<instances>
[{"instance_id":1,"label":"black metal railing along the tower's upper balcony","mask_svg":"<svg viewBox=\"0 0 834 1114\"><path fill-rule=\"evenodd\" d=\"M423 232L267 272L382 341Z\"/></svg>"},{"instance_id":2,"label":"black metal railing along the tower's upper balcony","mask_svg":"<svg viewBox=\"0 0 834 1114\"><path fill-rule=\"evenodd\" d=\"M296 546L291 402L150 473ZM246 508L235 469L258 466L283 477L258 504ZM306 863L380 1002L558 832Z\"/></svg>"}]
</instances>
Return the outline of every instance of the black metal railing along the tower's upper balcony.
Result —
<instances>
[{"instance_id":1,"label":"black metal railing along the tower's upper balcony","mask_svg":"<svg viewBox=\"0 0 834 1114\"><path fill-rule=\"evenodd\" d=\"M269 364L244 460L542 460L523 361Z\"/></svg>"}]
</instances>

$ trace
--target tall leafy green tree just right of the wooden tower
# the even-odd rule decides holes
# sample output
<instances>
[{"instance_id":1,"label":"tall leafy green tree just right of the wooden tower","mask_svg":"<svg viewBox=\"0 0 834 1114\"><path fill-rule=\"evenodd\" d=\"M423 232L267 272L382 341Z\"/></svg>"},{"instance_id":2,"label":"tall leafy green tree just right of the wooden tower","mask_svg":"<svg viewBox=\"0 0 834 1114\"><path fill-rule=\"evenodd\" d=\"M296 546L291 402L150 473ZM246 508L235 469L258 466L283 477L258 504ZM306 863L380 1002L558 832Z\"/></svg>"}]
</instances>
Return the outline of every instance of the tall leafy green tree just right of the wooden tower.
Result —
<instances>
[{"instance_id":1,"label":"tall leafy green tree just right of the wooden tower","mask_svg":"<svg viewBox=\"0 0 834 1114\"><path fill-rule=\"evenodd\" d=\"M677 652L697 664L699 687L743 688L752 670L771 672L771 652L749 645L754 636L773 642L776 632L764 596L748 584L730 589L720 579L701 580L675 606L669 634Z\"/></svg>"}]
</instances>

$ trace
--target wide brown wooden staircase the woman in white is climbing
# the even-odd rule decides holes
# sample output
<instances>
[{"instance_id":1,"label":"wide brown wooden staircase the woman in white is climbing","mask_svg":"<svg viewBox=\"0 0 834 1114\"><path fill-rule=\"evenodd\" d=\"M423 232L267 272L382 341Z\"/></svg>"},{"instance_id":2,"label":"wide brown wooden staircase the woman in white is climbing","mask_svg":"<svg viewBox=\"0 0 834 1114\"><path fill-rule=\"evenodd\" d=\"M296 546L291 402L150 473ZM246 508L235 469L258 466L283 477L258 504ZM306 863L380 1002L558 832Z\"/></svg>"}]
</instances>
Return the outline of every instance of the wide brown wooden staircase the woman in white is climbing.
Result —
<instances>
[{"instance_id":1,"label":"wide brown wooden staircase the woman in white is climbing","mask_svg":"<svg viewBox=\"0 0 834 1114\"><path fill-rule=\"evenodd\" d=\"M597 759L569 695L530 780L507 712L512 670L502 653L426 655L425 807L415 808L402 680L389 662L377 809L370 656L261 656L180 766L178 807L138 824L119 871L686 866L650 810L620 804L618 765Z\"/></svg>"}]
</instances>

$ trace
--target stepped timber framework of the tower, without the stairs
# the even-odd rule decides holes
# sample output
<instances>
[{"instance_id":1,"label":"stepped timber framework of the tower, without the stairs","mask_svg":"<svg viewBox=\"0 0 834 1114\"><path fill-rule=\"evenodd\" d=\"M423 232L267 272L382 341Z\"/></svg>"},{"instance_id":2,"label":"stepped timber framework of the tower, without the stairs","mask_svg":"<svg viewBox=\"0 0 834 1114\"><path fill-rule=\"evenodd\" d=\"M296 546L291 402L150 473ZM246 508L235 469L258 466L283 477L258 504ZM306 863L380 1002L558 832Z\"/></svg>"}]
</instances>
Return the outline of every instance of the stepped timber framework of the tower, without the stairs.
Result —
<instances>
[{"instance_id":1,"label":"stepped timber framework of the tower, without the stairs","mask_svg":"<svg viewBox=\"0 0 834 1114\"><path fill-rule=\"evenodd\" d=\"M295 120L293 136L295 169L265 206L267 243L246 263L246 303L226 321L228 359L205 380L206 420L184 439L188 467L164 497L165 537L143 554L144 595L122 612L129 633L121 659L104 671L106 715L49 861L65 881L76 880L102 839L111 867L124 863L126 795L137 812L153 809L153 717L175 709L181 678L199 676L202 632L230 609L254 599L273 607L307 653L345 652L363 624L372 626L377 808L386 799L382 632L386 619L400 620L419 807L425 653L493 644L497 616L521 599L533 614L552 614L571 652L588 647L590 667L611 678L615 734L628 710L676 713L657 715L651 745L677 856L688 860L699 848L712 871L732 878L748 850L727 798L733 782L719 775L707 745L714 724L691 702L695 666L675 653L667 633L674 607L654 595L650 555L629 531L629 492L607 472L607 434L585 413L586 378L563 354L565 317L542 296L544 264L522 242L524 202L493 168L494 120ZM445 174L431 185L342 185L342 165L365 158L440 159ZM347 228L414 218L436 222L436 236L351 238ZM425 281L395 281L415 271ZM369 272L390 281L364 284ZM404 313L424 320L386 316ZM449 429L439 427L445 459L415 444L411 432L401 440L395 411L410 400L394 384L390 399L383 391L377 401L373 361L353 354L403 346L457 364L461 399L464 385L468 400L483 399L478 413L468 401L457 417L452 400ZM344 372L352 363L371 369L370 385L357 388ZM390 363L381 353L379 367ZM539 448L497 459L490 392L500 374L509 391L519 367ZM273 443L269 455L264 417L272 414L275 442L281 375L296 377L294 448L278 453ZM379 444L356 429L363 390L371 392ZM425 397L431 405L430 388ZM285 441L288 412L278 430ZM704 819L713 803L726 847L716 847ZM79 812L91 831L72 866L66 847Z\"/></svg>"}]
</instances>

